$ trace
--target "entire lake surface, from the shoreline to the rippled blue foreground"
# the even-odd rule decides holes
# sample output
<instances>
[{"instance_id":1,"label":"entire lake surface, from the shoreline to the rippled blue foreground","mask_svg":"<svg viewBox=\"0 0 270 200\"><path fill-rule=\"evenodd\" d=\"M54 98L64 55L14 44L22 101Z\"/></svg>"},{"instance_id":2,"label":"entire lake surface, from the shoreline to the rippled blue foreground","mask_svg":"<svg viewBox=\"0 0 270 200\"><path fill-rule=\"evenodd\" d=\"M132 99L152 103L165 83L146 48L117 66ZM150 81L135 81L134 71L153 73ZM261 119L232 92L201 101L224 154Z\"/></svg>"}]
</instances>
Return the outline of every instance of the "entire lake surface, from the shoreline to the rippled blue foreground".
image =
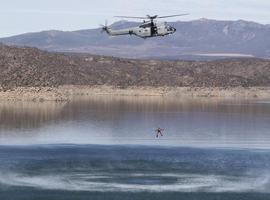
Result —
<instances>
[{"instance_id":1,"label":"entire lake surface, from the shoreline to the rippled blue foreground","mask_svg":"<svg viewBox=\"0 0 270 200\"><path fill-rule=\"evenodd\" d=\"M0 163L0 199L270 199L270 101L0 103Z\"/></svg>"}]
</instances>

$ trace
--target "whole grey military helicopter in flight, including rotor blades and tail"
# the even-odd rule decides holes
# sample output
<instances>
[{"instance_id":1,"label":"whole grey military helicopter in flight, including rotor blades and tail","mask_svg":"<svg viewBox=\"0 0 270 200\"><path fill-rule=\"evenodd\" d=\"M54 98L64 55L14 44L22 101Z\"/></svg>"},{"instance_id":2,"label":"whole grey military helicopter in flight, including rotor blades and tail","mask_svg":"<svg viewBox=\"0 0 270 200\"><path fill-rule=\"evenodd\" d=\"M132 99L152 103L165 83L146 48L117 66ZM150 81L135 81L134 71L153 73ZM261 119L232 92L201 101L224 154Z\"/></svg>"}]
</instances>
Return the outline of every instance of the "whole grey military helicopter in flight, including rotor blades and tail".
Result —
<instances>
[{"instance_id":1,"label":"whole grey military helicopter in flight, including rotor blades and tail","mask_svg":"<svg viewBox=\"0 0 270 200\"><path fill-rule=\"evenodd\" d=\"M145 17L131 17L131 16L114 16L117 18L127 18L127 19L142 19L143 23L138 27L132 27L127 29L112 30L107 24L101 25L101 32L106 32L109 36L120 36L120 35L135 35L137 37L146 39L151 37L166 36L174 34L176 28L170 26L167 22L158 22L156 19L164 19L170 17L184 16L188 14L180 15L169 15L169 16L150 16L146 15Z\"/></svg>"}]
</instances>

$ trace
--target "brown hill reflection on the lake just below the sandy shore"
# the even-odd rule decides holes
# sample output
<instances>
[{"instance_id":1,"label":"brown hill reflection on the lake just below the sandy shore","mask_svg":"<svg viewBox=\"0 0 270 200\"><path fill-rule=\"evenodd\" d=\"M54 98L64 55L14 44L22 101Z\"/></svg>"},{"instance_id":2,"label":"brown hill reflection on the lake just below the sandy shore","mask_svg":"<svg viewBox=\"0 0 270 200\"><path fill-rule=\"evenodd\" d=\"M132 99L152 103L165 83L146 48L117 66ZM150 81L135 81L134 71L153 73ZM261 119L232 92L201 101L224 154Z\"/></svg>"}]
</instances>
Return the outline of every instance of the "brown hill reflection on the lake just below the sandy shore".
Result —
<instances>
[{"instance_id":1,"label":"brown hill reflection on the lake just below the sandy shore","mask_svg":"<svg viewBox=\"0 0 270 200\"><path fill-rule=\"evenodd\" d=\"M132 112L212 112L245 116L270 113L270 107L265 103L250 105L248 101L112 96L95 96L69 103L1 102L0 128L39 128L49 123L85 118L115 121Z\"/></svg>"}]
</instances>

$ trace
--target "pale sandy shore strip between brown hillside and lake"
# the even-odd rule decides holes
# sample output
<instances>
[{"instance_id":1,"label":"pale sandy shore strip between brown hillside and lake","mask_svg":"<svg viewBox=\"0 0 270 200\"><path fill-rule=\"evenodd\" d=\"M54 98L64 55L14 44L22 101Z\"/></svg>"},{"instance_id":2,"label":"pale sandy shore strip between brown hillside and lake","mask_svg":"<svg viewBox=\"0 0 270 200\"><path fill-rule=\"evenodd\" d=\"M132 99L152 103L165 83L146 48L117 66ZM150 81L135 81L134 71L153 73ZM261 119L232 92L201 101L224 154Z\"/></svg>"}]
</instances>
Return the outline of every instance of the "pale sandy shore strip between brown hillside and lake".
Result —
<instances>
[{"instance_id":1,"label":"pale sandy shore strip between brown hillside and lake","mask_svg":"<svg viewBox=\"0 0 270 200\"><path fill-rule=\"evenodd\" d=\"M269 99L270 87L251 88L190 88L190 87L129 87L125 89L110 86L61 86L18 87L0 90L0 101L69 101L78 97L94 95L111 96L169 96L177 98L239 98Z\"/></svg>"}]
</instances>

